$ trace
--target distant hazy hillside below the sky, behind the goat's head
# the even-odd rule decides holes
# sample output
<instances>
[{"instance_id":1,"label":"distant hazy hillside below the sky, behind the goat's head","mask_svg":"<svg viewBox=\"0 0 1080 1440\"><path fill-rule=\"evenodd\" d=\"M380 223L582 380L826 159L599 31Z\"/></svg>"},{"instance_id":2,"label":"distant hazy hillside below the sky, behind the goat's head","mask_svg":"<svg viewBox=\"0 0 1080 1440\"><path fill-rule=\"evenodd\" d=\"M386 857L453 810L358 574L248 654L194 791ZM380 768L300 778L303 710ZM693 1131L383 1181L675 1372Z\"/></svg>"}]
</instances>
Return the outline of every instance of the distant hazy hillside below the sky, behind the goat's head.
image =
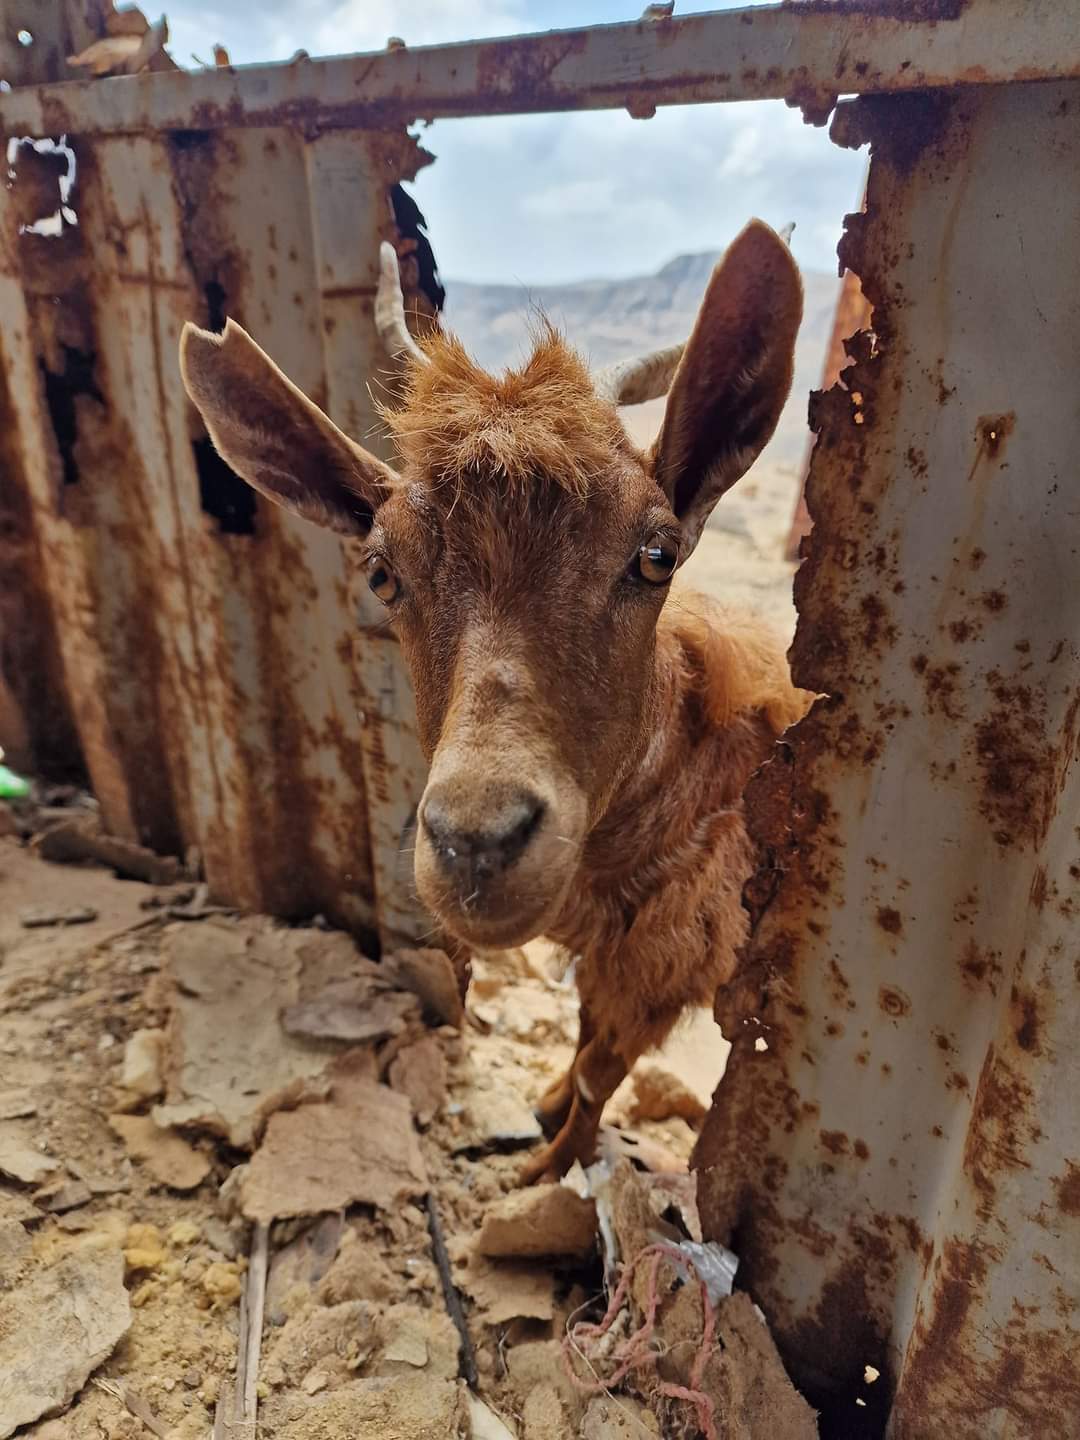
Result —
<instances>
[{"instance_id":1,"label":"distant hazy hillside below the sky, behind the goat's head","mask_svg":"<svg viewBox=\"0 0 1080 1440\"><path fill-rule=\"evenodd\" d=\"M670 346L690 334L717 261L713 252L680 255L655 275L580 281L573 285L474 285L446 281L445 323L487 369L517 363L528 348L537 310L560 327L593 364ZM795 356L795 384L780 425L760 459L768 467L799 467L806 445L806 392L821 383L840 281L804 272L806 312ZM662 402L626 412L635 438L655 433Z\"/></svg>"}]
</instances>

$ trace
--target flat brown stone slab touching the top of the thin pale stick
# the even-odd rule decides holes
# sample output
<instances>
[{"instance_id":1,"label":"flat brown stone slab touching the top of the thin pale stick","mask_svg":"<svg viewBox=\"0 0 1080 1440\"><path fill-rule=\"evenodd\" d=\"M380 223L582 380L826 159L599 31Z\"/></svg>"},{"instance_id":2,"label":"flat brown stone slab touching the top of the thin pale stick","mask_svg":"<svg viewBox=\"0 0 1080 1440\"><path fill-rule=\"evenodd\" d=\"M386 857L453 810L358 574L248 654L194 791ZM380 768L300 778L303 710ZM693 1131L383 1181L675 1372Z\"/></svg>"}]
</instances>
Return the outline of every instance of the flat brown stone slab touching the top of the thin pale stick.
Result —
<instances>
[{"instance_id":1,"label":"flat brown stone slab touching the top of the thin pale stick","mask_svg":"<svg viewBox=\"0 0 1080 1440\"><path fill-rule=\"evenodd\" d=\"M390 1210L423 1195L428 1172L405 1096L366 1079L327 1104L281 1110L239 1181L248 1220L318 1215L347 1205Z\"/></svg>"}]
</instances>

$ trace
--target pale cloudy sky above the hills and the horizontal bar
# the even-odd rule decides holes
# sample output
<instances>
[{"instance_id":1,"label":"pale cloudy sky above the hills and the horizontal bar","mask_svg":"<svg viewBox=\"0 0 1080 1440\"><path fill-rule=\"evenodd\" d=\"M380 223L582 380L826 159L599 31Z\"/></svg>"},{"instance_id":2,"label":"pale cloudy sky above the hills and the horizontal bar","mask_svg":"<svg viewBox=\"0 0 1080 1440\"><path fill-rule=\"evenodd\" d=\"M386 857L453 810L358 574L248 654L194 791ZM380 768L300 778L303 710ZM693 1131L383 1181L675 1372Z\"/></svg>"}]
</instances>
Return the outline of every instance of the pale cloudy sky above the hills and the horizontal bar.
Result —
<instances>
[{"instance_id":1,"label":"pale cloudy sky above the hills and the horizontal bar","mask_svg":"<svg viewBox=\"0 0 1080 1440\"><path fill-rule=\"evenodd\" d=\"M734 0L677 0L677 14ZM747 3L747 0L742 0ZM753 0L750 0L753 3ZM180 65L235 65L520 35L634 20L644 0L228 0L168 4ZM750 216L795 222L808 269L835 271L842 216L860 202L865 158L838 150L782 101L687 105L648 121L619 111L442 120L422 131L436 156L413 194L444 276L543 285L657 271L719 251Z\"/></svg>"}]
</instances>

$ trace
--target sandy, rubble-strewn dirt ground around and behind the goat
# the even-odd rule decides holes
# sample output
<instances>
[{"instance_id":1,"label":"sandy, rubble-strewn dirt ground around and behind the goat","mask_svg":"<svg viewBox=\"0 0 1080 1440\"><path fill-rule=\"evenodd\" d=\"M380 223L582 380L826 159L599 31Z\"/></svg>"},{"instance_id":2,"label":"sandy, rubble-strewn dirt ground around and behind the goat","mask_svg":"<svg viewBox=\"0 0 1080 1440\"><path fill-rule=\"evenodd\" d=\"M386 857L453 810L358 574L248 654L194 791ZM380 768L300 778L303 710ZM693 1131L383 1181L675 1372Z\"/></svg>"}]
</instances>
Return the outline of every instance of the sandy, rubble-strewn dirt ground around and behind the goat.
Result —
<instances>
[{"instance_id":1,"label":"sandy, rubble-strewn dirt ground around and behind the goat","mask_svg":"<svg viewBox=\"0 0 1080 1440\"><path fill-rule=\"evenodd\" d=\"M736 490L687 585L789 634L793 500ZM377 968L27 828L0 838L0 1440L816 1433L747 1297L704 1300L710 1015L624 1083L598 1166L521 1192L564 958L478 960L465 1014L438 952Z\"/></svg>"}]
</instances>

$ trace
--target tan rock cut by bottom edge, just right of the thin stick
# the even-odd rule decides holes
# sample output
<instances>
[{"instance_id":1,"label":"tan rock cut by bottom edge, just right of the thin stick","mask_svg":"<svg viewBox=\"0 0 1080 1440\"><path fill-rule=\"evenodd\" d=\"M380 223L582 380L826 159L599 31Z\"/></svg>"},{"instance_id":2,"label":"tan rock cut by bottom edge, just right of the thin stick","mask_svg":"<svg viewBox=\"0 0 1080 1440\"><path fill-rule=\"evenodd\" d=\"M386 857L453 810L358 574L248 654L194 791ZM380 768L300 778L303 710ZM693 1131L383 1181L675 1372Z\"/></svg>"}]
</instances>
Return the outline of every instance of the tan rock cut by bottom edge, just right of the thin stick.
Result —
<instances>
[{"instance_id":1,"label":"tan rock cut by bottom edge, just right of the thin stick","mask_svg":"<svg viewBox=\"0 0 1080 1440\"><path fill-rule=\"evenodd\" d=\"M287 1416L274 1426L278 1440L467 1440L469 1433L464 1390L425 1372L354 1380L302 1410L289 1397Z\"/></svg>"}]
</instances>

